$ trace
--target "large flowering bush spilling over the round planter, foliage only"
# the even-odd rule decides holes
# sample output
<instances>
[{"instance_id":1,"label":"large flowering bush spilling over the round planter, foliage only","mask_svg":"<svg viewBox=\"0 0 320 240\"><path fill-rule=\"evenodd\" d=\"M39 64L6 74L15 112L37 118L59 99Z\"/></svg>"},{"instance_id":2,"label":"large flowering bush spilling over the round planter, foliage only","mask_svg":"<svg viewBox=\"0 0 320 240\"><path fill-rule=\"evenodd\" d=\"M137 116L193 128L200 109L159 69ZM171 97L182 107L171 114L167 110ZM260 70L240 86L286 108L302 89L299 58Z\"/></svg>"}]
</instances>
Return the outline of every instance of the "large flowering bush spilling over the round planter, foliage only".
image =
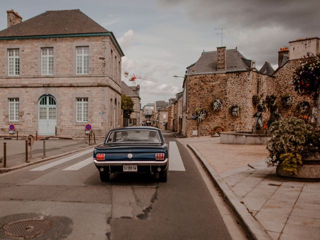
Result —
<instances>
[{"instance_id":1,"label":"large flowering bush spilling over the round planter, foliage only","mask_svg":"<svg viewBox=\"0 0 320 240\"><path fill-rule=\"evenodd\" d=\"M269 156L265 159L268 166L282 164L283 170L296 174L302 159L319 151L320 133L301 119L282 118L271 124L270 132L266 147Z\"/></svg>"}]
</instances>

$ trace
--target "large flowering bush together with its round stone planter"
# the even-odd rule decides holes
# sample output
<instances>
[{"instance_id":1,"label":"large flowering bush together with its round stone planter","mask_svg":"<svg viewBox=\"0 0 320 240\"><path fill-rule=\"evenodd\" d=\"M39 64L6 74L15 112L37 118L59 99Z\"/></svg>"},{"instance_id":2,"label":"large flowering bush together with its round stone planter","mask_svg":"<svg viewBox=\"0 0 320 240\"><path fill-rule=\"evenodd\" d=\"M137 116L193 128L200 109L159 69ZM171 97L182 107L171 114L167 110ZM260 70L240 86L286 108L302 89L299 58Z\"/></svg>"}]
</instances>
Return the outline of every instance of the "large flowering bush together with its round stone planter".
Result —
<instances>
[{"instance_id":1,"label":"large flowering bush together with its round stone planter","mask_svg":"<svg viewBox=\"0 0 320 240\"><path fill-rule=\"evenodd\" d=\"M268 166L276 166L276 172L283 176L320 178L320 165L314 163L320 161L319 131L302 119L289 117L273 122L270 132Z\"/></svg>"}]
</instances>

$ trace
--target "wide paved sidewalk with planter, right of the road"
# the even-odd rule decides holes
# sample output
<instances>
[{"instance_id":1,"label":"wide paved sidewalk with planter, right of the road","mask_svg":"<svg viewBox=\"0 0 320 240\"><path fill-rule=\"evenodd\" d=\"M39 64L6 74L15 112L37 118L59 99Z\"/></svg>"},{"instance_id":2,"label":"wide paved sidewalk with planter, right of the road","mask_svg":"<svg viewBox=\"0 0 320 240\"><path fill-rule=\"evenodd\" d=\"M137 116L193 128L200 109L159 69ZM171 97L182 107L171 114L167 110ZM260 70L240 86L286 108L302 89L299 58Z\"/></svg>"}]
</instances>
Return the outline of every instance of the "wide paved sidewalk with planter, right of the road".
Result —
<instances>
[{"instance_id":1,"label":"wide paved sidewalk with planter, right of the road","mask_svg":"<svg viewBox=\"0 0 320 240\"><path fill-rule=\"evenodd\" d=\"M266 167L265 145L179 138L204 167L251 239L320 239L320 182L282 179Z\"/></svg>"}]
</instances>

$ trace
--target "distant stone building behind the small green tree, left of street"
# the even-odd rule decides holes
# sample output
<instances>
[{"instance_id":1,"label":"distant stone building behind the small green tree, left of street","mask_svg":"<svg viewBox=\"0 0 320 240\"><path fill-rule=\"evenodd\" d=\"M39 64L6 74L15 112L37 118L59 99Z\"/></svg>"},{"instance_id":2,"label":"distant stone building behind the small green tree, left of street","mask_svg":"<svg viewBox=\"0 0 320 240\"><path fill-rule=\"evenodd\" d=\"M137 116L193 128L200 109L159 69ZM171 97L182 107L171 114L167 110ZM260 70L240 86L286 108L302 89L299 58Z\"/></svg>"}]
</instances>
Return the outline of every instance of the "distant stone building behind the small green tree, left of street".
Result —
<instances>
[{"instance_id":1,"label":"distant stone building behind the small green tree, left of street","mask_svg":"<svg viewBox=\"0 0 320 240\"><path fill-rule=\"evenodd\" d=\"M141 98L139 96L140 85L128 86L124 81L121 81L121 92L122 94L129 96L134 102L134 110L130 115L130 125L140 126L141 125Z\"/></svg>"}]
</instances>

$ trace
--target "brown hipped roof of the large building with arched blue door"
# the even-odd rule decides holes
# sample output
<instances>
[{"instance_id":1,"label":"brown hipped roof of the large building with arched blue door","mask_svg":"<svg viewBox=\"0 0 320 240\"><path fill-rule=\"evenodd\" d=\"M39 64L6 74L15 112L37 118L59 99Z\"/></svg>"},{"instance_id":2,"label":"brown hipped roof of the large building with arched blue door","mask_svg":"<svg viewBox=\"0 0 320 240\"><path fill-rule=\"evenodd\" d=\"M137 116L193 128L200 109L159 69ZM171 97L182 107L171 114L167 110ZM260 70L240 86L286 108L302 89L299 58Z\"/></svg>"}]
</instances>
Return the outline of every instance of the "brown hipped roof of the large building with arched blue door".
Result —
<instances>
[{"instance_id":1,"label":"brown hipped roof of the large building with arched blue door","mask_svg":"<svg viewBox=\"0 0 320 240\"><path fill-rule=\"evenodd\" d=\"M0 31L0 37L106 33L79 9L46 11Z\"/></svg>"}]
</instances>

